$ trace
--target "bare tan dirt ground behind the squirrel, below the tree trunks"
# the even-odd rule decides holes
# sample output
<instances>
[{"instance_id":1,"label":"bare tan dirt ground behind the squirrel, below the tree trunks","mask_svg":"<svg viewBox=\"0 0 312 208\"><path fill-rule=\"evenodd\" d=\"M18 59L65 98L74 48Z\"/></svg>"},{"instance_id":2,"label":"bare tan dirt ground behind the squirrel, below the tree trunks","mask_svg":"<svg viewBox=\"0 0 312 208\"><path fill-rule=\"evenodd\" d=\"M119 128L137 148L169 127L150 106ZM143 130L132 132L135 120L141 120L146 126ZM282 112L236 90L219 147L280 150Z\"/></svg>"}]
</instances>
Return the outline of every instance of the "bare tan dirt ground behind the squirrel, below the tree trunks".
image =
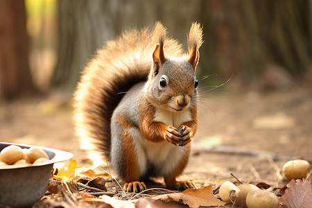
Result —
<instances>
[{"instance_id":1,"label":"bare tan dirt ground behind the squirrel, below the tree trunks","mask_svg":"<svg viewBox=\"0 0 312 208\"><path fill-rule=\"evenodd\" d=\"M225 180L266 182L278 187L289 159L312 162L311 85L265 92L227 87L200 99L200 126L189 164L180 178L198 187L216 187ZM79 150L71 101L62 96L0 103L0 141ZM162 180L159 180L162 182Z\"/></svg>"}]
</instances>

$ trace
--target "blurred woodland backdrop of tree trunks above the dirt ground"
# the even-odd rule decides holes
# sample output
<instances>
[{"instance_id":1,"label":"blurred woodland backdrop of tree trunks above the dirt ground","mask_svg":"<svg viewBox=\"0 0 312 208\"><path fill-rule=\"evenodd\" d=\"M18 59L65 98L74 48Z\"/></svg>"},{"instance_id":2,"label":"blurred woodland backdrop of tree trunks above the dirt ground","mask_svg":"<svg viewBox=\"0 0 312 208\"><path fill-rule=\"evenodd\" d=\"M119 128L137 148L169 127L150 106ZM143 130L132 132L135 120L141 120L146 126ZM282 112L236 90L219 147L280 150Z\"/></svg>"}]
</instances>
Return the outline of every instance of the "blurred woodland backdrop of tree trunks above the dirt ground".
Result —
<instances>
[{"instance_id":1,"label":"blurred woodland backdrop of tree trunks above the dirt ground","mask_svg":"<svg viewBox=\"0 0 312 208\"><path fill-rule=\"evenodd\" d=\"M87 59L128 28L153 28L186 44L191 22L204 29L200 73L207 85L287 87L311 75L312 1L1 0L0 97L71 94ZM300 80L302 81L302 80ZM264 82L264 83L263 83Z\"/></svg>"}]
</instances>

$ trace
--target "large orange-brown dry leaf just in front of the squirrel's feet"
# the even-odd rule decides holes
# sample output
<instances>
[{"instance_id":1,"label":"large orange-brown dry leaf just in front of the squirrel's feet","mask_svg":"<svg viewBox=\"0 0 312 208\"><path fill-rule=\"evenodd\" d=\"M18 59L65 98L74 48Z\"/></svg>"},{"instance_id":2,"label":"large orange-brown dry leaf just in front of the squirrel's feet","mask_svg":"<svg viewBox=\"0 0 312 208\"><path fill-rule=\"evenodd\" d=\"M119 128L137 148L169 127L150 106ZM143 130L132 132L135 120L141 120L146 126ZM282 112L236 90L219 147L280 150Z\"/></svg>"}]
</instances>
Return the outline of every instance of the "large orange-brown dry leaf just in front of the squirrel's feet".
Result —
<instances>
[{"instance_id":1,"label":"large orange-brown dry leaf just in front of the squirrel's feet","mask_svg":"<svg viewBox=\"0 0 312 208\"><path fill-rule=\"evenodd\" d=\"M217 207L225 205L224 202L218 200L218 198L212 193L211 186L202 189L187 189L182 193L163 194L153 198L164 201L173 200L175 202L182 200L184 204L189 205L189 207Z\"/></svg>"}]
</instances>

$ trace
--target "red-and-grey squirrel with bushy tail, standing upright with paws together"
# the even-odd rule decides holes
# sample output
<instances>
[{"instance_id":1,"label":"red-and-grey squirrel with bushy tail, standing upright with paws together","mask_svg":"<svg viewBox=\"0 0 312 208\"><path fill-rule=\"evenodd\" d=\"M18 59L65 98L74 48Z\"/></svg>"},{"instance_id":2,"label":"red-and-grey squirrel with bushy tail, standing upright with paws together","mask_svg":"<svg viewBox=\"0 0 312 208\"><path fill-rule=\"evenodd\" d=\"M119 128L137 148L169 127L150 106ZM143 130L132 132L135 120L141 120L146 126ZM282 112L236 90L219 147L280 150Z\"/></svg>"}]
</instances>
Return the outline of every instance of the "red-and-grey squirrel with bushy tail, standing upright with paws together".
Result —
<instances>
[{"instance_id":1,"label":"red-and-grey squirrel with bushy tail, standing upright with paws together","mask_svg":"<svg viewBox=\"0 0 312 208\"><path fill-rule=\"evenodd\" d=\"M170 189L196 188L177 181L198 128L196 66L202 27L193 23L188 53L155 31L123 32L89 61L74 94L76 132L82 148L105 153L125 191L146 189L144 180L164 177Z\"/></svg>"}]
</instances>

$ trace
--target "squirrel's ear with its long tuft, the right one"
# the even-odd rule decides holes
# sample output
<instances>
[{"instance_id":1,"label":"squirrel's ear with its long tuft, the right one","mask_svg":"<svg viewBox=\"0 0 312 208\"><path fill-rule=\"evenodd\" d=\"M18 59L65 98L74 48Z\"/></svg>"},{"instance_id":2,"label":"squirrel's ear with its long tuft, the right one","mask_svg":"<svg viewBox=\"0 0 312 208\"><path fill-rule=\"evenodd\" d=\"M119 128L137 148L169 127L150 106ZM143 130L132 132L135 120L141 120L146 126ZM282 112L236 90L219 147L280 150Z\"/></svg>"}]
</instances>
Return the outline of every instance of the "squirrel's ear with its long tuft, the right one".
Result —
<instances>
[{"instance_id":1,"label":"squirrel's ear with its long tuft, the right one","mask_svg":"<svg viewBox=\"0 0 312 208\"><path fill-rule=\"evenodd\" d=\"M202 27L199 23L194 22L191 25L189 36L187 37L187 47L189 49L189 62L196 69L199 60L198 49L202 45Z\"/></svg>"}]
</instances>

